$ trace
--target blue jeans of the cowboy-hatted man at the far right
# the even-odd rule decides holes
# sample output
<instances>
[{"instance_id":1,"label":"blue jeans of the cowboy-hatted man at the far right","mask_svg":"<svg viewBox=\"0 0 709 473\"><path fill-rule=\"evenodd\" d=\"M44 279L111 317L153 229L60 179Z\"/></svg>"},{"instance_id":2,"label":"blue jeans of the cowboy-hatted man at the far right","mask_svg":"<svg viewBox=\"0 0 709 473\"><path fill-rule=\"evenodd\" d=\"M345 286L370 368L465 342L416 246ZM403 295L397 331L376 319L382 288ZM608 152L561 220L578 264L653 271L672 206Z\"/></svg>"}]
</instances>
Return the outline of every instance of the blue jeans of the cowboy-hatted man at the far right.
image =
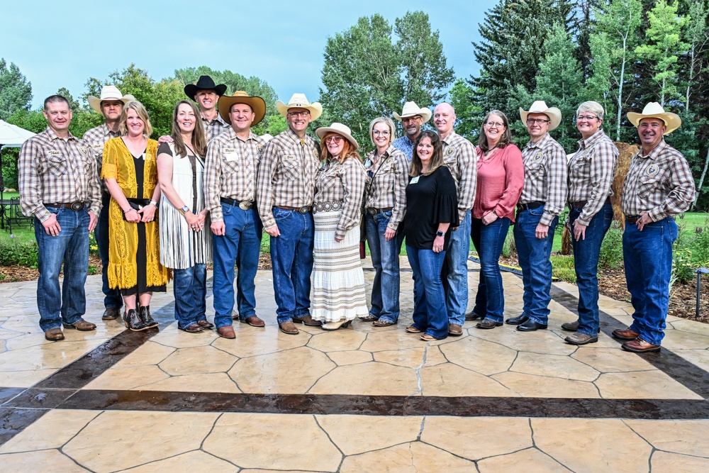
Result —
<instances>
[{"instance_id":1,"label":"blue jeans of the cowboy-hatted man at the far right","mask_svg":"<svg viewBox=\"0 0 709 473\"><path fill-rule=\"evenodd\" d=\"M634 309L630 328L653 345L659 345L664 337L676 239L677 224L672 218L649 223L642 232L635 224L625 223L623 262Z\"/></svg>"}]
</instances>

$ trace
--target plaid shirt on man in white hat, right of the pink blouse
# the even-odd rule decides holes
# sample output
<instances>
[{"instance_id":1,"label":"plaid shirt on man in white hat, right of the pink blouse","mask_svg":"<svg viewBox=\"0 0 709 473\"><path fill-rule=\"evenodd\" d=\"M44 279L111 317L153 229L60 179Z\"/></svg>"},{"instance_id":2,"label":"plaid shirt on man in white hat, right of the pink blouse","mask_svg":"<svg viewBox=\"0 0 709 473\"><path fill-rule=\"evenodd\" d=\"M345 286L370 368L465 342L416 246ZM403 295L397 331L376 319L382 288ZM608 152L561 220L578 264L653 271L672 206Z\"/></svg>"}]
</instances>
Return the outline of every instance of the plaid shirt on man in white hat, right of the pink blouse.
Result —
<instances>
[{"instance_id":1,"label":"plaid shirt on man in white hat, right of the pink blouse","mask_svg":"<svg viewBox=\"0 0 709 473\"><path fill-rule=\"evenodd\" d=\"M525 187L520 204L545 202L544 214L539 223L551 225L554 217L566 205L566 153L549 133L537 143L527 143L522 151L525 165Z\"/></svg>"}]
</instances>

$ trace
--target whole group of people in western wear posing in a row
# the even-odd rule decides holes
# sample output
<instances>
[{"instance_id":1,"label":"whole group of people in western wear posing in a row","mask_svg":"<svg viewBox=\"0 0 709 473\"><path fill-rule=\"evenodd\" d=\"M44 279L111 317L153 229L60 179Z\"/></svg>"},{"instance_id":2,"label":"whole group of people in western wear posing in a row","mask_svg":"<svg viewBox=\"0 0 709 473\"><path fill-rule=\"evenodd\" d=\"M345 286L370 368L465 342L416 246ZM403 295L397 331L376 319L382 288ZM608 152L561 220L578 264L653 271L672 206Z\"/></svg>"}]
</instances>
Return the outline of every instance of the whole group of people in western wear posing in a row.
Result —
<instances>
[{"instance_id":1,"label":"whole group of people in western wear posing in a row","mask_svg":"<svg viewBox=\"0 0 709 473\"><path fill-rule=\"evenodd\" d=\"M252 131L266 113L261 97L243 91L227 96L226 86L208 76L184 91L189 100L175 106L172 133L157 141L149 138L145 107L116 87L89 97L106 122L83 139L69 133L67 99L45 100L48 128L23 145L18 168L23 213L35 217L37 302L48 340L64 338L62 325L96 328L82 317L91 231L103 264L103 318L122 316L130 330L157 325L150 297L165 291L171 277L179 329L197 333L216 326L221 337L235 338L235 320L264 327L255 298L264 230L283 333L298 334L299 323L347 328L354 318L375 327L396 324L404 241L415 301L408 333L441 340L462 335L464 321L476 319L481 330L503 323L542 330L551 300L549 256L568 205L579 318L562 329L570 332L566 343L598 341L598 257L613 220L618 162L618 149L603 133L600 104L587 101L576 111L581 140L570 157L549 134L561 112L535 101L529 110L520 108L529 134L522 150L502 111L487 113L474 146L454 132L450 104L431 112L406 102L401 114L393 113L405 134L395 139L391 118L374 118L374 149L362 158L342 123L318 128L320 143L306 133L323 108L303 94L277 101L288 129L272 138ZM431 118L435 131L422 130ZM681 125L679 116L650 103L627 118L641 143L622 199L623 255L635 312L632 325L613 336L625 341L625 350L647 352L659 350L664 332L674 216L686 211L695 187L685 158L664 142ZM524 306L505 320L498 260L510 226ZM375 270L369 308L360 262L365 238ZM474 307L466 313L469 238L481 269ZM205 301L211 262L213 323Z\"/></svg>"}]
</instances>

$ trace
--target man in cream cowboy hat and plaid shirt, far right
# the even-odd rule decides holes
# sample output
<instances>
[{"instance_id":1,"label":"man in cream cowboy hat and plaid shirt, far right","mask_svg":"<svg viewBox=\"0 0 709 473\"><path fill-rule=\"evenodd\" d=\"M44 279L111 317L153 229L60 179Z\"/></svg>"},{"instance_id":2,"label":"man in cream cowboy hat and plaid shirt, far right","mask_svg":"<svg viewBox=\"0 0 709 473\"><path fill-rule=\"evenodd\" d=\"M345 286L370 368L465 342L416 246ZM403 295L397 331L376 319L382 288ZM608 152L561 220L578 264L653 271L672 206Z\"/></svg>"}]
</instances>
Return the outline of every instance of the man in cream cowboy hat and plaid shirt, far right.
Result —
<instances>
[{"instance_id":1,"label":"man in cream cowboy hat and plaid shirt, far right","mask_svg":"<svg viewBox=\"0 0 709 473\"><path fill-rule=\"evenodd\" d=\"M642 113L628 113L637 127L640 152L632 157L623 184L623 262L632 303L632 324L613 330L629 352L655 352L664 337L672 273L674 216L686 211L696 193L685 157L665 143L682 121L651 102Z\"/></svg>"}]
</instances>

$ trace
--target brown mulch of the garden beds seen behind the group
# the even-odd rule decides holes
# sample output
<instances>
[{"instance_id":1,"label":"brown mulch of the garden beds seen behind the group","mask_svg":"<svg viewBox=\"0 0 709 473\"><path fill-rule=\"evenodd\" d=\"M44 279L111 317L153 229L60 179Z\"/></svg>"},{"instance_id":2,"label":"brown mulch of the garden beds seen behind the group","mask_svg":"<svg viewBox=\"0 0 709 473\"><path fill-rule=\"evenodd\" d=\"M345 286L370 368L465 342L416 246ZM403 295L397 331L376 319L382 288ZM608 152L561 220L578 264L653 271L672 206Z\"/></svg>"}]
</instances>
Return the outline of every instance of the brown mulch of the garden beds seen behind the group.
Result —
<instances>
[{"instance_id":1,"label":"brown mulch of the garden beds seen behind the group","mask_svg":"<svg viewBox=\"0 0 709 473\"><path fill-rule=\"evenodd\" d=\"M501 257L500 262L517 266L516 257ZM261 255L259 269L271 269L270 255ZM89 272L101 273L101 259L89 256ZM38 279L37 269L23 266L0 266L0 283L33 281ZM625 286L625 272L620 269L602 269L598 271L598 291L617 301L630 302L630 293ZM709 323L709 278L701 284L699 316L696 315L697 285L696 279L688 284L675 283L669 299L669 315L687 318L692 321Z\"/></svg>"}]
</instances>

